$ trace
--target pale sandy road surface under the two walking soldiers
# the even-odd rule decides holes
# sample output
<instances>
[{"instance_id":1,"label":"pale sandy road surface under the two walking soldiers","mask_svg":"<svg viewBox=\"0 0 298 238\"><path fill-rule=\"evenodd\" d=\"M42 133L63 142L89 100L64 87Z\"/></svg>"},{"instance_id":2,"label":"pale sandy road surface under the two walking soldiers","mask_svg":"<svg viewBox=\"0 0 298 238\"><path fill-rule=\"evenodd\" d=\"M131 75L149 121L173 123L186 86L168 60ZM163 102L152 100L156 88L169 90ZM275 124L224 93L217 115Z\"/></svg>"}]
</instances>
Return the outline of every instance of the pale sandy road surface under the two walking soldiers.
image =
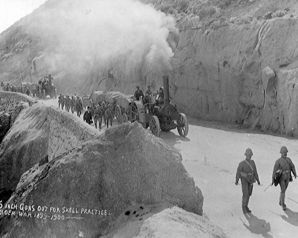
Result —
<instances>
[{"instance_id":1,"label":"pale sandy road surface under the two walking soldiers","mask_svg":"<svg viewBox=\"0 0 298 238\"><path fill-rule=\"evenodd\" d=\"M55 99L43 102L58 106ZM298 141L192 118L189 122L187 137L181 138L177 130L161 132L160 137L182 154L183 165L203 192L204 213L212 223L220 226L229 238L298 237L298 179L290 183L286 192L286 211L278 205L279 186L264 191L271 184L282 145L287 146L288 157L298 168ZM241 185L234 184L237 166L245 159L247 147L253 151L252 160L261 181L261 185L254 185L248 204L252 213L248 215L241 209Z\"/></svg>"}]
</instances>

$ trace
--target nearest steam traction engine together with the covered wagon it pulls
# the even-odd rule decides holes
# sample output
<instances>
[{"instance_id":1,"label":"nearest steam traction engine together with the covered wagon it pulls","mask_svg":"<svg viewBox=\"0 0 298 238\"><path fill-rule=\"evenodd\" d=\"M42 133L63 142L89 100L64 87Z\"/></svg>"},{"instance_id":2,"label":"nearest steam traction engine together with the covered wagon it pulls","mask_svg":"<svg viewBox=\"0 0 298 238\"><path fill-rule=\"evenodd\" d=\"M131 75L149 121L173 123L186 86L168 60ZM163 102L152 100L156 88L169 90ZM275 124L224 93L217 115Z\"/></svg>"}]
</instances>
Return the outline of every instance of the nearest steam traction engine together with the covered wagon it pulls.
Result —
<instances>
[{"instance_id":1,"label":"nearest steam traction engine together with the covered wagon it pulls","mask_svg":"<svg viewBox=\"0 0 298 238\"><path fill-rule=\"evenodd\" d=\"M90 95L90 101L96 105L101 102L111 104L113 114L119 124L138 121L144 128L156 135L160 130L169 131L177 128L181 137L188 134L188 121L183 113L179 113L177 106L169 98L168 77L162 77L164 98L156 101L155 96L146 95L144 100L136 100L134 95L125 95L120 92L96 91Z\"/></svg>"}]
</instances>

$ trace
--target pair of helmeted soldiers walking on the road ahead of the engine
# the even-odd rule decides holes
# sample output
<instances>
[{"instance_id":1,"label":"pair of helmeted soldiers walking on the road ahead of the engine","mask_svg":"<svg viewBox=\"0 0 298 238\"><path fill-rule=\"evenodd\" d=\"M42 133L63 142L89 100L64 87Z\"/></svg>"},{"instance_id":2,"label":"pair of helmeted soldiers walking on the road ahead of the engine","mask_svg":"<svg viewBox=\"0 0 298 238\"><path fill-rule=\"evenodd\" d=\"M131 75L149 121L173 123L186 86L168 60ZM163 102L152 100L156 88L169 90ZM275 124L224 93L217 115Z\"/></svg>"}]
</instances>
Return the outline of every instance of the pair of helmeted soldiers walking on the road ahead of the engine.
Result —
<instances>
[{"instance_id":1,"label":"pair of helmeted soldiers walking on the road ahead of the engine","mask_svg":"<svg viewBox=\"0 0 298 238\"><path fill-rule=\"evenodd\" d=\"M283 210L287 209L285 204L285 193L288 188L289 182L293 181L292 173L297 178L295 166L292 160L287 157L288 149L286 146L282 146L280 149L281 158L279 158L274 165L272 173L272 183L271 185L280 184L281 193L279 197L279 205ZM238 185L239 179L241 179L242 184L242 211L243 213L250 213L251 210L248 208L249 197L252 194L253 183L258 182L260 185L260 180L257 172L255 162L251 160L253 155L252 150L247 148L244 155L245 160L239 163L236 172L235 184ZM266 189L265 189L266 190Z\"/></svg>"}]
</instances>

